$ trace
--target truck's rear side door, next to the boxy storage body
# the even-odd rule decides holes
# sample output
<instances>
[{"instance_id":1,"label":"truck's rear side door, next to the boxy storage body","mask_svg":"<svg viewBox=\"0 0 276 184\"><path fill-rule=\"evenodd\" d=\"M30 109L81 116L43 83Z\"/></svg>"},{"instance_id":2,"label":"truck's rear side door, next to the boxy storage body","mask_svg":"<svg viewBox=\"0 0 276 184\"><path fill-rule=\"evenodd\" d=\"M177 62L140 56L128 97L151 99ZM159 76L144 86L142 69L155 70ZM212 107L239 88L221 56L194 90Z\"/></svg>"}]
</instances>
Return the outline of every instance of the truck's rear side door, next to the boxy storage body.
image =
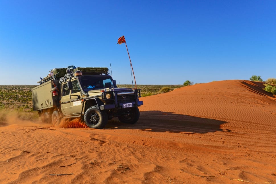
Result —
<instances>
[{"instance_id":1,"label":"truck's rear side door, next to the boxy storage body","mask_svg":"<svg viewBox=\"0 0 276 184\"><path fill-rule=\"evenodd\" d=\"M70 91L68 89L67 83L62 84L61 87L61 111L64 115L71 114L71 100Z\"/></svg>"}]
</instances>

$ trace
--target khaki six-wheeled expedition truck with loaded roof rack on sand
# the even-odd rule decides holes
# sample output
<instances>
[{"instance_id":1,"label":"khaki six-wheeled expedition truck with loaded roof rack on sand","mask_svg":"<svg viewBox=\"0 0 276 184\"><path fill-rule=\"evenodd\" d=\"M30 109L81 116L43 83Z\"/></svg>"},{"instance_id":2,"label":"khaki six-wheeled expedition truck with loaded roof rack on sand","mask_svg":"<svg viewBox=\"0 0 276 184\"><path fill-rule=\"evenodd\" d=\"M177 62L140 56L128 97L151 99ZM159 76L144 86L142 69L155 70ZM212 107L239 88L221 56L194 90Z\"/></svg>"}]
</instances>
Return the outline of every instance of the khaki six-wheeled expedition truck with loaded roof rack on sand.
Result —
<instances>
[{"instance_id":1,"label":"khaki six-wheeled expedition truck with loaded roof rack on sand","mask_svg":"<svg viewBox=\"0 0 276 184\"><path fill-rule=\"evenodd\" d=\"M104 128L118 117L134 124L140 116L140 89L118 88L108 68L52 69L32 89L34 111L42 122L58 124L61 118L83 118L90 128Z\"/></svg>"}]
</instances>

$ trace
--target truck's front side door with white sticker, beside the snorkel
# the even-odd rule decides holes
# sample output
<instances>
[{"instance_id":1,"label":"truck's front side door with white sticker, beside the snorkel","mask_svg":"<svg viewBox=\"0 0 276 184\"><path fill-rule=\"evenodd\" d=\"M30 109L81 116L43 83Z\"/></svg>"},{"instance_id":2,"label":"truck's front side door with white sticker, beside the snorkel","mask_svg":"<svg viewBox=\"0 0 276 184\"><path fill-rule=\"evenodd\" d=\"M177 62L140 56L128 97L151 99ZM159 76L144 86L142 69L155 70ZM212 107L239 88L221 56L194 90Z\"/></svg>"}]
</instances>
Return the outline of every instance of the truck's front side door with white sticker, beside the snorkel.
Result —
<instances>
[{"instance_id":1,"label":"truck's front side door with white sticker, beside the snorkel","mask_svg":"<svg viewBox=\"0 0 276 184\"><path fill-rule=\"evenodd\" d=\"M71 109L72 113L81 113L81 109L83 106L83 101L81 101L81 88L77 79L72 81L72 90L71 93Z\"/></svg>"}]
</instances>

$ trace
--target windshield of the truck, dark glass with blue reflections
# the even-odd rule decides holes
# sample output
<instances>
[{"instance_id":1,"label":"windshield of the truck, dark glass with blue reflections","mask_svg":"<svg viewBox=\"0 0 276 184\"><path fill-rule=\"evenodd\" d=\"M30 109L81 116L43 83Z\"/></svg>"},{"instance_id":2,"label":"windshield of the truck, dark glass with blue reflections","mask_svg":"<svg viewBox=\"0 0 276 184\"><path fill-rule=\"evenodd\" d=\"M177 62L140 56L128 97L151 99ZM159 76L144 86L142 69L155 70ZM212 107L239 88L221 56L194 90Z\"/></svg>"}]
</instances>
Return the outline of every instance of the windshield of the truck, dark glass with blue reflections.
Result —
<instances>
[{"instance_id":1,"label":"windshield of the truck, dark glass with blue reflections","mask_svg":"<svg viewBox=\"0 0 276 184\"><path fill-rule=\"evenodd\" d=\"M80 79L82 87L85 91L113 87L113 82L109 75L82 76Z\"/></svg>"}]
</instances>

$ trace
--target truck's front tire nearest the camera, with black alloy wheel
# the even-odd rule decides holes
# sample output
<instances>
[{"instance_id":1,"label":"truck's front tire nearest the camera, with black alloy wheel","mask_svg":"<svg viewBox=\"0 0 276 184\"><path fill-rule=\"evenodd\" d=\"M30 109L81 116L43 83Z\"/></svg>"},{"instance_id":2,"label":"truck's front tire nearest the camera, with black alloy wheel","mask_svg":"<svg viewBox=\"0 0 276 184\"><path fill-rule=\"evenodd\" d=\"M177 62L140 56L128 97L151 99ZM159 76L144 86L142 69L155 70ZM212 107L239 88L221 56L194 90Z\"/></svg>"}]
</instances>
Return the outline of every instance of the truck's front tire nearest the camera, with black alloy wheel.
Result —
<instances>
[{"instance_id":1,"label":"truck's front tire nearest the camera, with black alloy wheel","mask_svg":"<svg viewBox=\"0 0 276 184\"><path fill-rule=\"evenodd\" d=\"M108 115L105 111L100 111L98 106L95 105L85 111L84 121L90 128L102 129L108 122Z\"/></svg>"}]
</instances>

